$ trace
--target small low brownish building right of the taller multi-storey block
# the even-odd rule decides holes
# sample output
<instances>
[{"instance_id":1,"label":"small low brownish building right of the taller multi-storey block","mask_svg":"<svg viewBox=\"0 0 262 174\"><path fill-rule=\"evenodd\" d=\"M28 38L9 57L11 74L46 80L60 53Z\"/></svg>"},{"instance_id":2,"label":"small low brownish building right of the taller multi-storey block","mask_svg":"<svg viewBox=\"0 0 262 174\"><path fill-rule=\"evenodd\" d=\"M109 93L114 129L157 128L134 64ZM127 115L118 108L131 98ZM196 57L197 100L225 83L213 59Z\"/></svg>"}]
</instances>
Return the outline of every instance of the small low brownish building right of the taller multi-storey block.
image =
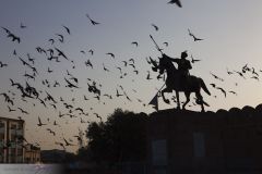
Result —
<instances>
[{"instance_id":1,"label":"small low brownish building right of the taller multi-storey block","mask_svg":"<svg viewBox=\"0 0 262 174\"><path fill-rule=\"evenodd\" d=\"M39 163L40 162L40 148L34 145L26 145L24 148L24 162L25 163Z\"/></svg>"}]
</instances>

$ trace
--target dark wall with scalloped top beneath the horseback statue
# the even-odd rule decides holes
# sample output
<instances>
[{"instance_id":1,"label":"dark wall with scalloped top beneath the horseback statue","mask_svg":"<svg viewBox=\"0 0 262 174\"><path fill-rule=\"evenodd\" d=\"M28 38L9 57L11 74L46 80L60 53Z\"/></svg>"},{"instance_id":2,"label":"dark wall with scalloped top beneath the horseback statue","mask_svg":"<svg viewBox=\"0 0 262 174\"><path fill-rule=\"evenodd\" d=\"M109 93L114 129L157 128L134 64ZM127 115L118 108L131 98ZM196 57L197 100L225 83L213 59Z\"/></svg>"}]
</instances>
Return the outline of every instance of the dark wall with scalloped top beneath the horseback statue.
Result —
<instances>
[{"instance_id":1,"label":"dark wall with scalloped top beneath the horseback statue","mask_svg":"<svg viewBox=\"0 0 262 174\"><path fill-rule=\"evenodd\" d=\"M262 173L262 104L229 111L150 115L151 174Z\"/></svg>"}]
</instances>

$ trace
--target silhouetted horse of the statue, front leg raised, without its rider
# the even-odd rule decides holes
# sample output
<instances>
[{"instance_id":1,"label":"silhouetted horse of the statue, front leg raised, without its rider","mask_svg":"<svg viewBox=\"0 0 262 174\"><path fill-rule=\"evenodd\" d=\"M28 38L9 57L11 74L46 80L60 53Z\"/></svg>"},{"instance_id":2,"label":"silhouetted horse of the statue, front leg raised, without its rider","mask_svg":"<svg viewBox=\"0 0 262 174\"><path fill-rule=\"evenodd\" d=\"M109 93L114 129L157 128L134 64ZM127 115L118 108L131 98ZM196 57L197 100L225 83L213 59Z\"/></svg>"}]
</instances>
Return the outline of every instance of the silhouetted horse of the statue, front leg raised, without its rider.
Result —
<instances>
[{"instance_id":1,"label":"silhouetted horse of the statue, front leg raised, without its rider","mask_svg":"<svg viewBox=\"0 0 262 174\"><path fill-rule=\"evenodd\" d=\"M187 79L181 79L179 71L175 67L171 60L166 54L163 54L163 57L159 58L159 64L157 69L159 69L159 74L163 74L165 70L167 72L166 88L162 90L162 97L166 103L169 103L169 100L165 98L164 94L175 90L177 97L177 108L180 109L179 91L183 91L187 99L182 105L182 109L184 110L186 105L190 101L190 94L195 92L195 102L201 104L201 111L204 112L204 104L207 107L209 104L204 102L200 90L202 88L207 95L211 94L202 78L190 75Z\"/></svg>"}]
</instances>

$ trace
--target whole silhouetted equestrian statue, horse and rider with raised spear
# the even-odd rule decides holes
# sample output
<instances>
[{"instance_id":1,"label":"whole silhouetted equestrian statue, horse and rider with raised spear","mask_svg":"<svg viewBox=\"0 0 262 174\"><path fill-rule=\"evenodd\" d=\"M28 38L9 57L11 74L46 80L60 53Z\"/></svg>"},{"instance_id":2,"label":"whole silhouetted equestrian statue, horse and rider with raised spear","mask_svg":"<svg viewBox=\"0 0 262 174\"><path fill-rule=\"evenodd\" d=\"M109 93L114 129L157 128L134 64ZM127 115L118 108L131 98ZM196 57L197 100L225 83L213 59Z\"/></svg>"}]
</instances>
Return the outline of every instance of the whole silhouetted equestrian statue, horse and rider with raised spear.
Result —
<instances>
[{"instance_id":1,"label":"whole silhouetted equestrian statue, horse and rider with raised spear","mask_svg":"<svg viewBox=\"0 0 262 174\"><path fill-rule=\"evenodd\" d=\"M201 111L204 112L204 105L209 104L203 100L201 96L201 88L207 94L211 95L205 83L202 78L190 75L189 70L192 69L191 63L186 58L188 57L187 51L181 53L181 59L174 59L165 53L162 52L162 49L157 46L154 38L150 35L156 48L162 53L162 58L159 58L159 63L153 67L153 71L159 70L159 74L164 74L166 71L166 88L162 90L163 100L166 103L169 103L169 100L165 98L165 92L172 92L176 91L177 98L177 109L180 109L180 101L179 101L179 91L182 91L186 96L186 102L182 104L182 109L186 109L186 105L190 101L190 94L195 94L195 103L201 105ZM172 62L177 63L178 67L176 67Z\"/></svg>"}]
</instances>

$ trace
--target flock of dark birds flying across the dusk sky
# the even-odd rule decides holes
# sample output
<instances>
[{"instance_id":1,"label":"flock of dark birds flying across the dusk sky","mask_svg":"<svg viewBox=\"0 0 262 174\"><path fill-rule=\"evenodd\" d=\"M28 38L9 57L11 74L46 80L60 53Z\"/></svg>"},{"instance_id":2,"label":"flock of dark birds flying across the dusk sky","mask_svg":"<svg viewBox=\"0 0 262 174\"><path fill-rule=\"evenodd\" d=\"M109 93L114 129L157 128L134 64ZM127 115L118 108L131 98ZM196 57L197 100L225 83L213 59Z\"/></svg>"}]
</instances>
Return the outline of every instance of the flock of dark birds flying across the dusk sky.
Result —
<instances>
[{"instance_id":1,"label":"flock of dark birds flying across the dusk sky","mask_svg":"<svg viewBox=\"0 0 262 174\"><path fill-rule=\"evenodd\" d=\"M181 2L179 0L171 0L168 3L176 3L178 7L182 7ZM93 20L88 14L86 14L87 20L90 21L92 26L99 25L100 22L97 22ZM159 27L155 24L151 24L151 27L153 27L154 32L158 32ZM14 34L12 29L8 27L1 27L3 30L3 35L5 34L7 38L16 45L22 45L24 40L21 39L20 36ZM22 24L20 25L20 29L26 29L27 26ZM190 29L188 29L189 37L192 38L193 41L202 41L203 38L196 37ZM81 79L78 77L74 72L79 70L80 67L76 67L75 60L71 59L67 50L61 49L61 45L63 45L68 37L71 37L72 33L70 27L66 25L61 25L60 33L55 33L53 36L49 39L47 39L47 42L45 42L45 47L37 46L35 47L35 52L26 53L26 55L21 55L19 51L15 50L15 48L12 51L13 59L16 59L19 62L19 65L21 69L25 70L25 73L23 75L19 76L19 79L9 79L10 88L7 89L7 91L1 91L0 94L0 101L4 102L7 105L7 111L10 113L16 113L20 116L17 119L20 120L27 120L26 115L31 115L31 112L23 108L23 104L25 105L32 105L32 107L40 107L44 110L51 110L55 113L55 117L44 117L40 115L38 116L36 127L45 130L47 135L56 137L55 145L60 146L62 149L67 149L67 147L72 147L82 145L84 139L84 133L82 129L79 128L79 133L73 135L72 137L66 137L63 133L61 133L61 127L64 126L62 123L70 124L70 122L76 121L80 124L87 125L91 123L91 116L95 116L99 122L103 122L103 116L99 115L97 112L95 112L94 107L90 107L88 111L86 111L86 108L81 108L76 104L76 101L79 102L88 102L88 101L97 101L98 104L105 105L107 102L114 102L115 99L120 99L124 103L129 102L138 102L141 103L142 107L148 107L148 101L143 101L139 96L138 89L133 88L132 90L128 91L124 88L124 84L115 84L115 90L114 91L107 91L107 88L105 87L106 84L100 83L98 79L92 79L90 77L85 79ZM4 40L5 41L5 40ZM131 46L138 48L140 47L139 41L130 41ZM169 47L169 44L167 41L163 42L163 46ZM92 57L95 54L95 49L90 48L88 50L79 50L81 54L84 57L88 57L88 59L78 60L82 61L81 64L85 66L88 71L98 70L99 65L95 64ZM49 64L67 64L68 69L62 72L60 72L62 78L55 79L56 75L53 73L57 72L52 66L43 66L43 63L40 64L40 60L45 60ZM107 64L102 63L100 65L104 73L110 73L114 72L114 75L117 74L117 77L120 79L130 79L134 82L134 78L141 78L141 72L143 70L140 70L138 65L140 62L136 62L135 59L127 59L127 60L120 60L116 57L114 52L105 52L105 59L108 59L110 61L115 61L114 64L120 64L118 66L115 66L114 70L109 69ZM141 60L140 60L141 61ZM145 70L146 76L144 77L144 80L153 82L152 79L162 80L163 84L165 83L165 75L164 76L154 76L152 75L152 70L157 69L158 62L151 57L145 58L143 61L146 61L148 64L148 69ZM192 64L200 62L201 60L194 59L191 54L190 61ZM48 64L46 63L46 65ZM0 61L0 71L3 69L9 69L9 63ZM44 69L44 70L43 70ZM86 71L86 70L83 70ZM262 71L260 71L262 72ZM144 73L144 72L143 72ZM142 73L142 74L143 74ZM253 67L249 67L248 64L246 64L240 71L229 71L227 69L228 75L239 75L242 78L247 78L246 76L248 74L251 74L251 78L259 80L259 73ZM52 77L52 79L45 78L45 75ZM211 75L219 82L224 82L224 79L214 73L211 72ZM21 83L23 82L23 83ZM85 84L83 86L82 84ZM236 91L228 90L217 86L215 83L210 84L214 89L219 90L225 97L227 94L237 95ZM237 84L236 84L237 85ZM40 87L39 87L40 86ZM78 90L82 90L83 88L86 89L85 94L82 94L81 98L73 97L71 99L66 98L64 96L68 94L64 94L64 96L58 96L57 90L64 90L68 89L69 94L74 95L78 92ZM157 89L156 89L157 90ZM216 96L214 96L216 97ZM2 98L2 99L1 99ZM172 98L176 102L176 98ZM195 104L195 103L192 103ZM190 105L189 105L190 107ZM41 114L41 113L40 113ZM66 125L67 126L67 125ZM60 133L58 134L55 129L60 129ZM25 137L17 137L21 142L27 142L29 144ZM76 144L78 142L78 144ZM35 146L39 146L39 141L31 142ZM23 144L21 146L24 147ZM9 147L9 142L7 142L5 147Z\"/></svg>"}]
</instances>

